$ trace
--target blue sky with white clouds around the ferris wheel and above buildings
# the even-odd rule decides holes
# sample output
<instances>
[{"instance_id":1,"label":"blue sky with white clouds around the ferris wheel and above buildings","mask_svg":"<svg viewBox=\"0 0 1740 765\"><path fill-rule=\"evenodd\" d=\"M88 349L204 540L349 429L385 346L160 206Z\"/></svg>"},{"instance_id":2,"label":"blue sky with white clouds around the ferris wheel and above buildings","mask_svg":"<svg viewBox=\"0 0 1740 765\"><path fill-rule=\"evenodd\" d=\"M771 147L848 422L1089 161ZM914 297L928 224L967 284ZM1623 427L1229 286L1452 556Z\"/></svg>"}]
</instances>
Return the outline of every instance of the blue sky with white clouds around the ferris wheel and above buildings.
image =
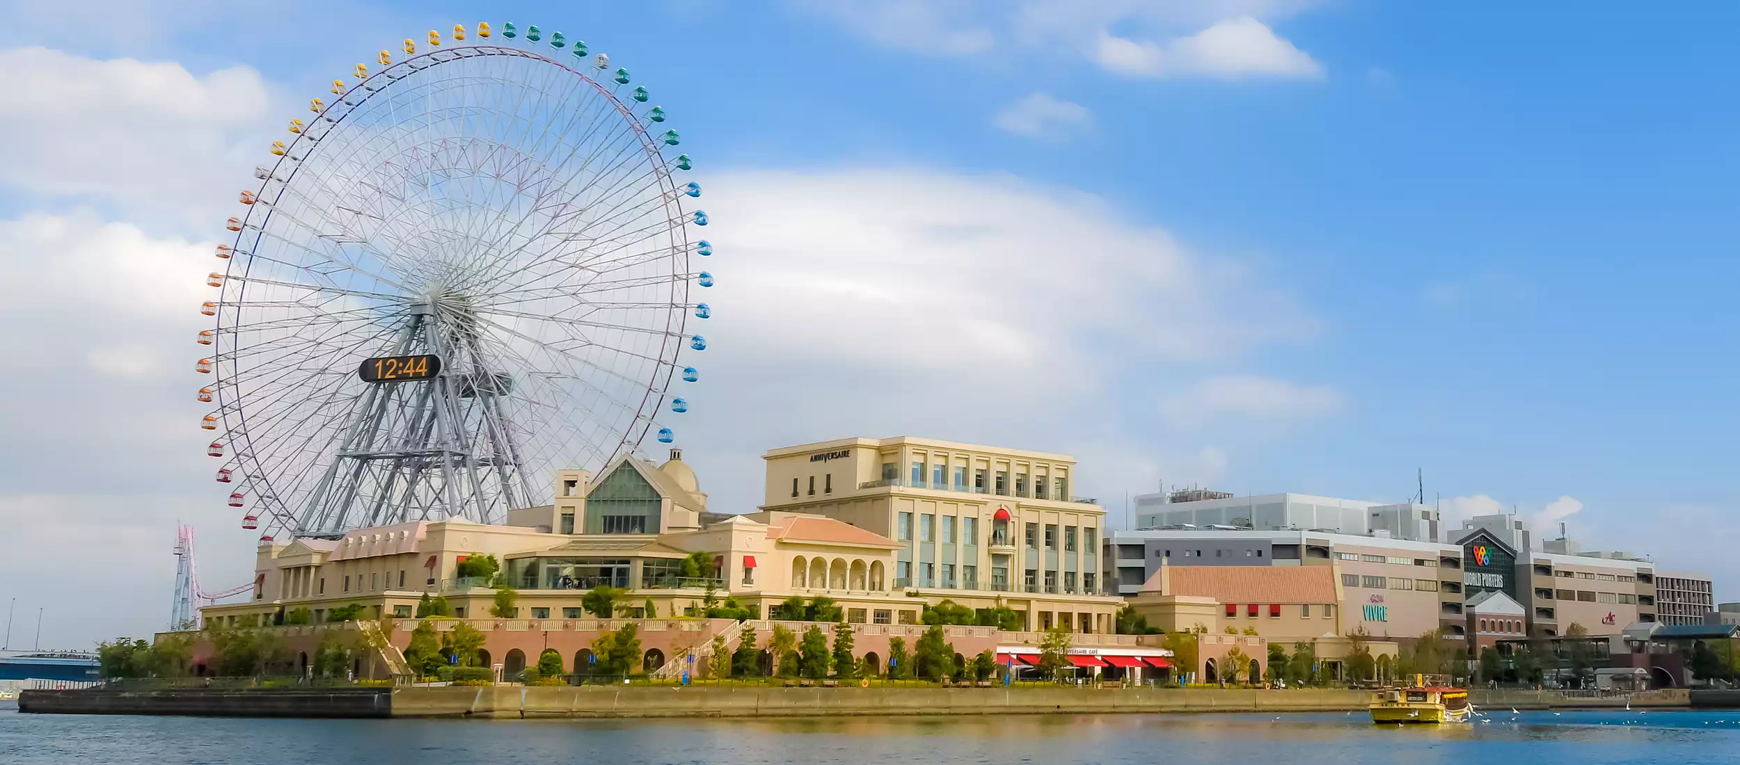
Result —
<instances>
[{"instance_id":1,"label":"blue sky with white clouds around the ferris wheel and above buildings","mask_svg":"<svg viewBox=\"0 0 1740 765\"><path fill-rule=\"evenodd\" d=\"M760 450L844 435L1072 452L1114 516L1124 492L1157 480L1401 501L1423 468L1451 513L1514 504L1564 518L1585 546L1710 570L1733 598L1740 10L576 5L491 3L482 17L607 50L699 163L727 256L708 351L722 374L693 398L684 445L717 509L752 509ZM12 226L0 283L10 297L28 278L68 301L101 292L57 282L45 247L90 252L92 268L137 247L184 259L197 282L231 186L308 96L398 38L473 24L478 9L14 3L0 75L40 89L0 108L0 130L26 137L0 150L14 165L0 172L0 226ZM127 80L137 73L115 59L174 76ZM164 85L176 76L186 82ZM99 103L155 87L169 90ZM211 111L176 108L184 96ZM177 153L190 130L211 132ZM80 150L103 162L66 170ZM171 176L186 183L153 191ZM950 243L917 202L997 247ZM70 231L44 233L45 221ZM860 249L872 240L893 245ZM856 280L919 318L863 318L875 306L825 292ZM833 309L858 318L835 336L793 329ZM197 318L184 313L124 322L172 334ZM927 336L931 320L988 329L967 332L983 343L966 360L914 353L959 341ZM21 339L40 313L0 322L14 349L61 348ZM179 374L191 346L146 334L122 346L137 372L115 381L136 396L125 424L87 424L129 435L17 449L0 508L24 534L7 551L94 536L148 572L132 600L167 603L162 551L181 518L209 539L212 579L245 577L249 537L212 508L209 466L139 457L198 449L197 433L157 435L198 416ZM997 353L974 356L987 348ZM818 381L835 395L811 393ZM44 389L23 370L0 384ZM92 409L47 396L75 421ZM0 426L16 442L78 424L44 417L14 409ZM113 482L50 469L82 459L137 469ZM52 593L17 596L23 609ZM59 636L144 631L157 610L70 614Z\"/></svg>"}]
</instances>

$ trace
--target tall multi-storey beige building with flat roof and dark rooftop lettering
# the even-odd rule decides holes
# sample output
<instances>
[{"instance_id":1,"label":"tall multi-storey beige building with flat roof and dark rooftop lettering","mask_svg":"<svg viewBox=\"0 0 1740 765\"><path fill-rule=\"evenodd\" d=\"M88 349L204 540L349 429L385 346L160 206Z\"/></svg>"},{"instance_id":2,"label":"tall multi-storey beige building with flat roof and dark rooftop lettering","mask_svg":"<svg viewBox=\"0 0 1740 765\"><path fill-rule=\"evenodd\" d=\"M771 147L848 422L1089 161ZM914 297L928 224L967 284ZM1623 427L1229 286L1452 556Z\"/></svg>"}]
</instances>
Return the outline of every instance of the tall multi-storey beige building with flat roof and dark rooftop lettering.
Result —
<instances>
[{"instance_id":1,"label":"tall multi-storey beige building with flat roof and dark rooftop lettering","mask_svg":"<svg viewBox=\"0 0 1740 765\"><path fill-rule=\"evenodd\" d=\"M769 450L767 511L837 518L896 542L891 586L927 600L999 602L1027 629L1108 633L1105 511L1075 497L1075 461L927 438L840 438ZM799 581L792 572L793 584Z\"/></svg>"}]
</instances>

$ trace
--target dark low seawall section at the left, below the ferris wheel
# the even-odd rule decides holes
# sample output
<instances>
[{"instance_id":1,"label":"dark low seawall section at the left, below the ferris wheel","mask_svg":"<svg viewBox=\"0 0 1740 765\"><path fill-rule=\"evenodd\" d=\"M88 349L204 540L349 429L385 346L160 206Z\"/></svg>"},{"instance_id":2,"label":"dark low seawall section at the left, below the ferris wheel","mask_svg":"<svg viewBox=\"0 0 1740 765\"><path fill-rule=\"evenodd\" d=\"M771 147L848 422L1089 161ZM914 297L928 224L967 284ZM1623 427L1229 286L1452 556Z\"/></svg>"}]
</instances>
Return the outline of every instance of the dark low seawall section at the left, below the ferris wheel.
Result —
<instances>
[{"instance_id":1,"label":"dark low seawall section at the left, below the ferris wheel","mask_svg":"<svg viewBox=\"0 0 1740 765\"><path fill-rule=\"evenodd\" d=\"M385 718L392 708L388 688L24 690L17 697L19 713L40 715Z\"/></svg>"}]
</instances>

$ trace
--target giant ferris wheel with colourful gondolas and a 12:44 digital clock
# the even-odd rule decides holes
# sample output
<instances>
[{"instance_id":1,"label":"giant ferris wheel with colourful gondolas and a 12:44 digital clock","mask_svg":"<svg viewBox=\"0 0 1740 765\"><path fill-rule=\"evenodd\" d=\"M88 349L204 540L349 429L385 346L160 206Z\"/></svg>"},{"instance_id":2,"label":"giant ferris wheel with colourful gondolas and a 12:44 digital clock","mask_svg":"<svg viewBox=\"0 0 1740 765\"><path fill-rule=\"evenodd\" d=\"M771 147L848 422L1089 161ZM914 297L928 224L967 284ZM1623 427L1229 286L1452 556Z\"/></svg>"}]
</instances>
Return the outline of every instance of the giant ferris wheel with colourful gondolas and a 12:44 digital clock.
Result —
<instances>
[{"instance_id":1,"label":"giant ferris wheel with colourful gondolas and a 12:44 digital clock","mask_svg":"<svg viewBox=\"0 0 1740 765\"><path fill-rule=\"evenodd\" d=\"M712 245L628 70L482 23L381 50L308 110L240 191L202 306L202 428L244 529L501 522L550 502L555 469L675 438Z\"/></svg>"}]
</instances>

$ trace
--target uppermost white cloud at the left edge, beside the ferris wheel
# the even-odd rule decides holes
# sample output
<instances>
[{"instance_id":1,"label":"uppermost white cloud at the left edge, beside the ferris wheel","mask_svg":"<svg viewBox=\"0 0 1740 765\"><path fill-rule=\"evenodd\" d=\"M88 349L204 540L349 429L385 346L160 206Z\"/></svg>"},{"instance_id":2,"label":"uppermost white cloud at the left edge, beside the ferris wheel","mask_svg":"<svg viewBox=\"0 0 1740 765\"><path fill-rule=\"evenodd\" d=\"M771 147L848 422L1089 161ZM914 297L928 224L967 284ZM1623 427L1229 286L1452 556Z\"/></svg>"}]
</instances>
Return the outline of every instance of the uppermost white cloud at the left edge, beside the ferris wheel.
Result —
<instances>
[{"instance_id":1,"label":"uppermost white cloud at the left edge, beside the ferris wheel","mask_svg":"<svg viewBox=\"0 0 1740 765\"><path fill-rule=\"evenodd\" d=\"M0 50L0 184L216 228L270 143L268 94L249 68ZM287 120L285 120L287 122Z\"/></svg>"}]
</instances>

